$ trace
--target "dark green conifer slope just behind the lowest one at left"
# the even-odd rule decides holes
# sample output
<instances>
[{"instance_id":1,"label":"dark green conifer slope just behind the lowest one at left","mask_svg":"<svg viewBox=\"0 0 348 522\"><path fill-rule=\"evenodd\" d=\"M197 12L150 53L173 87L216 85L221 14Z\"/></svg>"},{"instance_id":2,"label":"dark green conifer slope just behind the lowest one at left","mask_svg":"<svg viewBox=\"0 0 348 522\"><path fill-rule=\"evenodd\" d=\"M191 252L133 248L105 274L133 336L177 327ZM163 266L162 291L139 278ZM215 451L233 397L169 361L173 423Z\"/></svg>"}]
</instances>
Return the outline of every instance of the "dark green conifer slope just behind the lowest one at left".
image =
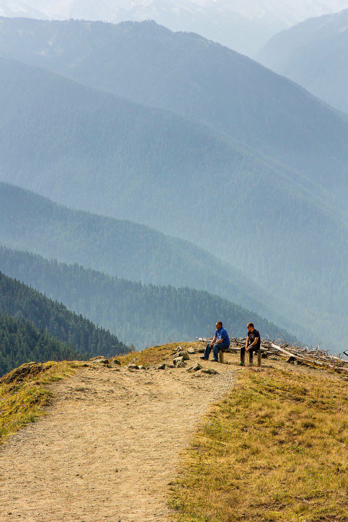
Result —
<instances>
[{"instance_id":1,"label":"dark green conifer slope just behind the lowest one at left","mask_svg":"<svg viewBox=\"0 0 348 522\"><path fill-rule=\"evenodd\" d=\"M83 354L111 356L128 351L109 331L0 272L0 314L4 313L28 319Z\"/></svg>"}]
</instances>

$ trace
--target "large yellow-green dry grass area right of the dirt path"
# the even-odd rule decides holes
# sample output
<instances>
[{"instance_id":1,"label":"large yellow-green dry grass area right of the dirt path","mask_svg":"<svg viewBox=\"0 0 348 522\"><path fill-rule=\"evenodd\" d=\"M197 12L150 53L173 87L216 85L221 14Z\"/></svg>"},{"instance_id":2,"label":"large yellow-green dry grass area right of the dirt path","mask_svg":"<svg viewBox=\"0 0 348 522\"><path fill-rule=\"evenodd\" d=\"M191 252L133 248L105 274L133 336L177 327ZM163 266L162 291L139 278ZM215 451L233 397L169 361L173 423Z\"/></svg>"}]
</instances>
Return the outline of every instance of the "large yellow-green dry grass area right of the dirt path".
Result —
<instances>
[{"instance_id":1,"label":"large yellow-green dry grass area right of the dirt path","mask_svg":"<svg viewBox=\"0 0 348 522\"><path fill-rule=\"evenodd\" d=\"M242 371L172 484L180 522L347 522L347 382Z\"/></svg>"}]
</instances>

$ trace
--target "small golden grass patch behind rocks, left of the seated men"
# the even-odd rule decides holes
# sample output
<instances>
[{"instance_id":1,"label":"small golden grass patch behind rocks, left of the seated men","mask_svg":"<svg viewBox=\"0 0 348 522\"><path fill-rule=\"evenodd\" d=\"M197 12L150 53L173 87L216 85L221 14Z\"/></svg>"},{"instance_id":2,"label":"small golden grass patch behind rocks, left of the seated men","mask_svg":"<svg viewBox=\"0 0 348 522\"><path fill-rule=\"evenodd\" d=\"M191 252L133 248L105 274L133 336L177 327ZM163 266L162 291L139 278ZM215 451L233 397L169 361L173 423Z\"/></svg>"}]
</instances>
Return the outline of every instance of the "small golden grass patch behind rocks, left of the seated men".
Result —
<instances>
[{"instance_id":1,"label":"small golden grass patch behind rocks, left of the seated men","mask_svg":"<svg viewBox=\"0 0 348 522\"><path fill-rule=\"evenodd\" d=\"M141 352L131 352L121 357L116 357L123 366L129 363L143 364L144 366L151 366L153 364L159 364L162 361L172 359L173 353L176 351L178 346L182 346L184 349L189 347L201 348L200 342L172 342L169 345L153 346L142 350Z\"/></svg>"}]
</instances>

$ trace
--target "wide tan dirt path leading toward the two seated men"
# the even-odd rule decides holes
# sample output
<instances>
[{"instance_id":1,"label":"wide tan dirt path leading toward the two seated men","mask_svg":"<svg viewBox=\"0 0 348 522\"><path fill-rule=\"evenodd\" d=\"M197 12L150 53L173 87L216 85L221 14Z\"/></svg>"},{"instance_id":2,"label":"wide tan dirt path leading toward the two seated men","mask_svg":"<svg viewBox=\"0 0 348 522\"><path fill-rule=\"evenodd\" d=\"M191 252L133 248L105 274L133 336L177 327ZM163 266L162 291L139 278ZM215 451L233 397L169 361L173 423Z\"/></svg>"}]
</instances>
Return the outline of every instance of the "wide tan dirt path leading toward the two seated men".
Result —
<instances>
[{"instance_id":1,"label":"wide tan dirt path leading toward the two seated men","mask_svg":"<svg viewBox=\"0 0 348 522\"><path fill-rule=\"evenodd\" d=\"M178 454L233 386L232 366L214 368L220 375L86 367L54 384L50 414L0 449L1 522L171 520Z\"/></svg>"}]
</instances>

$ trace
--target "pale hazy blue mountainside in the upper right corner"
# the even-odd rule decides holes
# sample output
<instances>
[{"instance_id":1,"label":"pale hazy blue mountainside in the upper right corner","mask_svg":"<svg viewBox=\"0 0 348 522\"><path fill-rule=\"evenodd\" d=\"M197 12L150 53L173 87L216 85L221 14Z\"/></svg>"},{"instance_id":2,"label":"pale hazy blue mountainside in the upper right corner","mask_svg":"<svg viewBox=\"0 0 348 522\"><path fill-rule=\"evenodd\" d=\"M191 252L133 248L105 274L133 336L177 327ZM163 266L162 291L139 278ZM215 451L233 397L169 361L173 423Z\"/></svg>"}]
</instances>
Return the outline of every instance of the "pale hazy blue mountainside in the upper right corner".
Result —
<instances>
[{"instance_id":1,"label":"pale hazy blue mountainside in the upper right corner","mask_svg":"<svg viewBox=\"0 0 348 522\"><path fill-rule=\"evenodd\" d=\"M348 112L348 9L276 34L256 58Z\"/></svg>"}]
</instances>

